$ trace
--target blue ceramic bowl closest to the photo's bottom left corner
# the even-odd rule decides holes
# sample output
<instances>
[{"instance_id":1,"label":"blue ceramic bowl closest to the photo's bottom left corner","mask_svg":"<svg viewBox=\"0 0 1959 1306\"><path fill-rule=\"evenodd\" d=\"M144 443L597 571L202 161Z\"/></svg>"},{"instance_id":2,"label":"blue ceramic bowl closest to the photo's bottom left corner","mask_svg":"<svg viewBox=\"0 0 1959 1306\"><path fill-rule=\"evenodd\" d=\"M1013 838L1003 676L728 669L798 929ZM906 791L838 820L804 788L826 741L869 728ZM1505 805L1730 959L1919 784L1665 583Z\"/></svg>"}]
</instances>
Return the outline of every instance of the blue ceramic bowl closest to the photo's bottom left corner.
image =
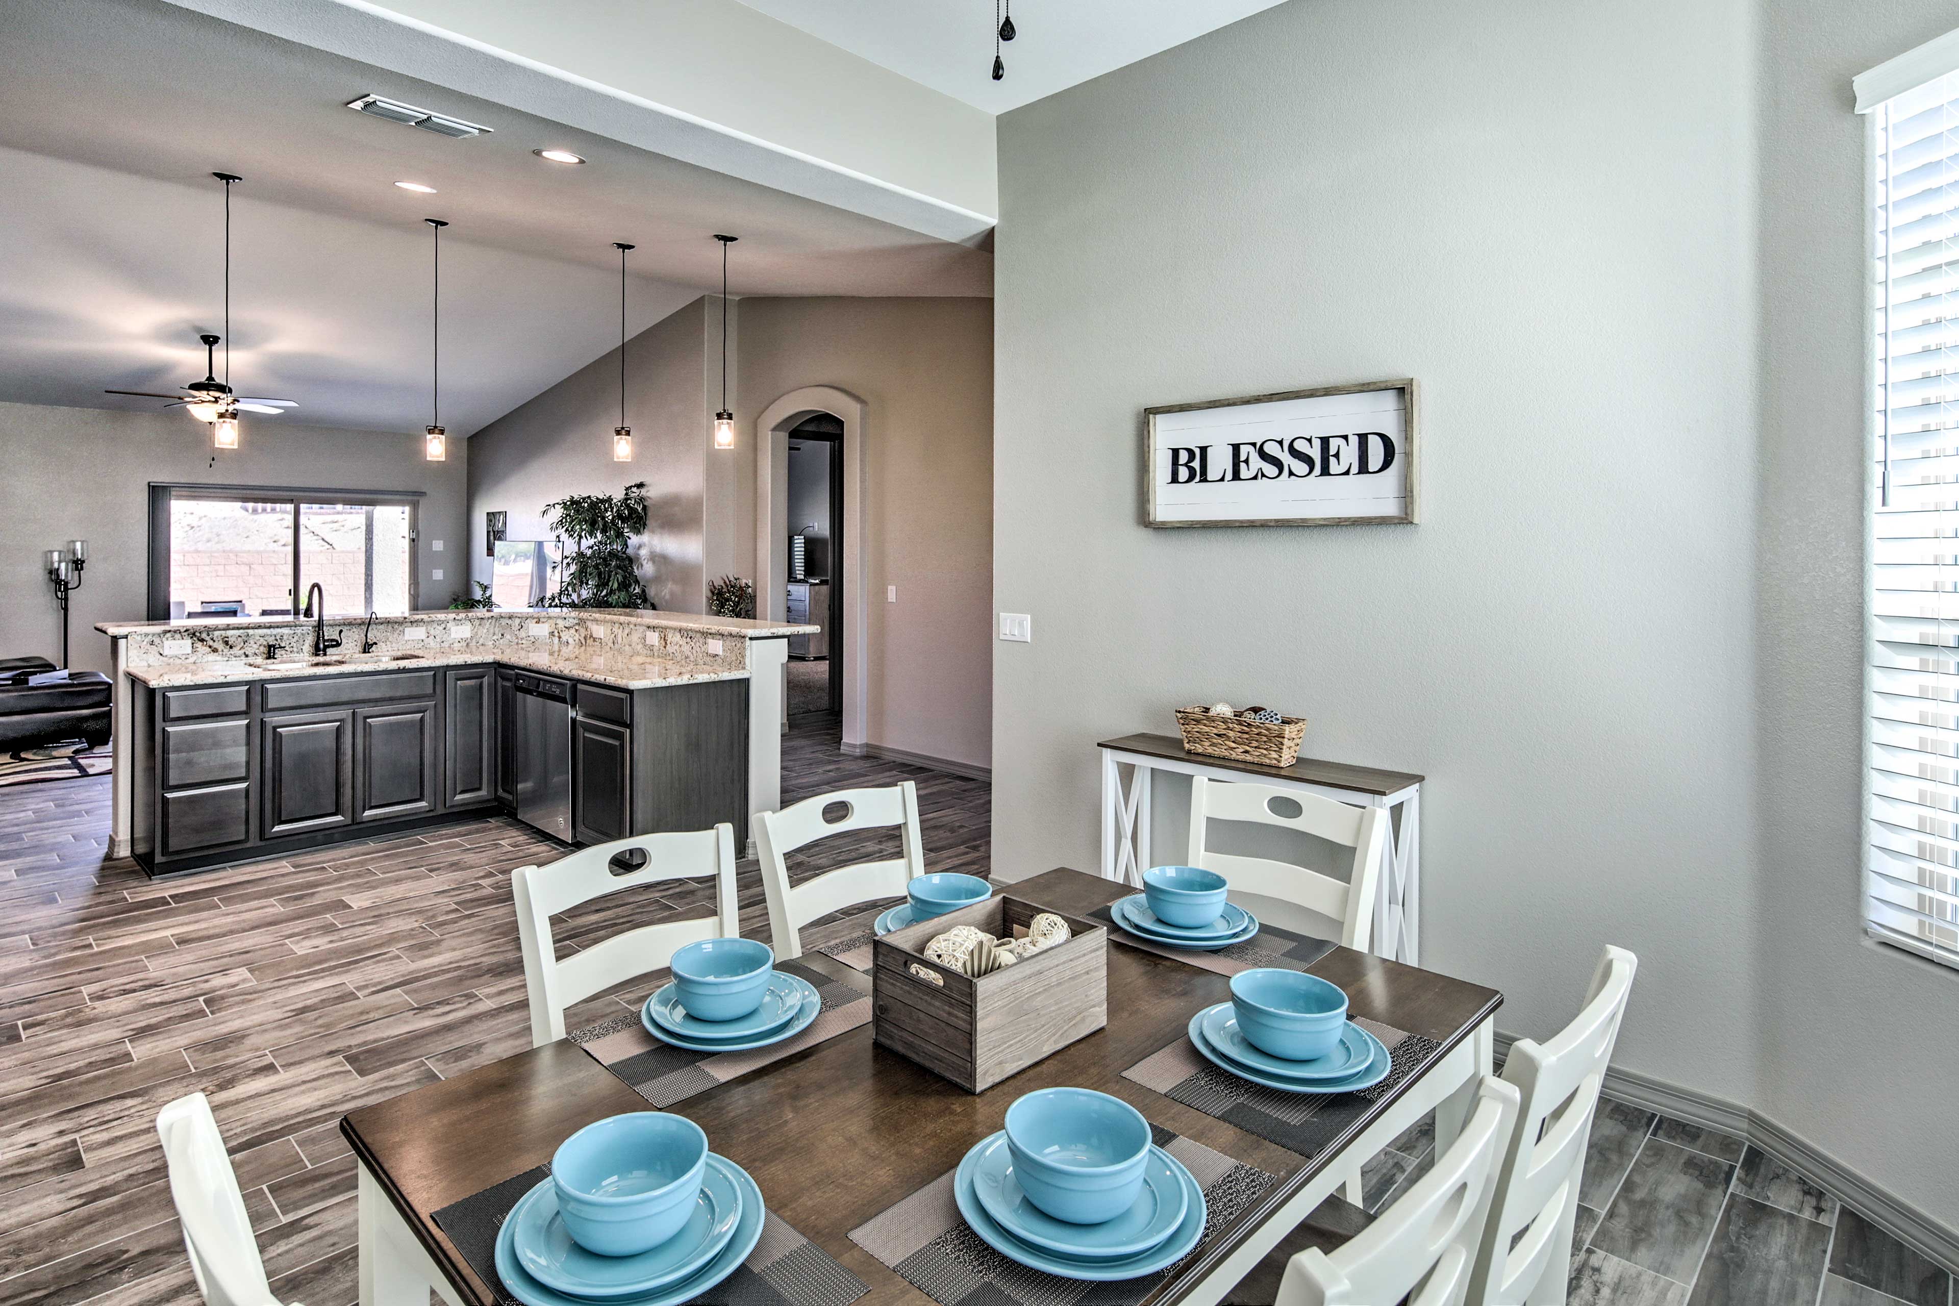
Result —
<instances>
[{"instance_id":1,"label":"blue ceramic bowl closest to the photo's bottom left corner","mask_svg":"<svg viewBox=\"0 0 1959 1306\"><path fill-rule=\"evenodd\" d=\"M639 1110L588 1124L550 1157L564 1232L586 1251L629 1257L693 1216L707 1136L686 1116Z\"/></svg>"}]
</instances>

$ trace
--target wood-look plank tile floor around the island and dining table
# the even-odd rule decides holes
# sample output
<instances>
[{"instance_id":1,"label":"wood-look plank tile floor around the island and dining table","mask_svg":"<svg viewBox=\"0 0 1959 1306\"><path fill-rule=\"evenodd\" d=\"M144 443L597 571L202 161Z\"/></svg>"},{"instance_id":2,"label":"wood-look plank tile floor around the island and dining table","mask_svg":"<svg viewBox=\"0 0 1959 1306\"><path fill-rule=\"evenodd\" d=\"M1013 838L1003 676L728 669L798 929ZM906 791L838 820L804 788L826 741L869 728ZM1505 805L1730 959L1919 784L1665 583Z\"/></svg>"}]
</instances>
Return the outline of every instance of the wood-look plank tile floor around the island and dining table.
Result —
<instances>
[{"instance_id":1,"label":"wood-look plank tile floor around the island and dining table","mask_svg":"<svg viewBox=\"0 0 1959 1306\"><path fill-rule=\"evenodd\" d=\"M784 744L786 801L897 779L919 785L931 867L985 873L985 783L846 758L821 721ZM153 1122L204 1091L274 1294L347 1306L339 1116L529 1046L507 881L564 848L492 818L153 883L104 858L108 805L108 779L0 789L0 1302L196 1302ZM793 869L895 852L882 840ZM688 881L594 905L560 922L560 948L703 914L707 897ZM744 863L756 936L760 899ZM572 1024L609 1010L594 999ZM1365 1204L1432 1157L1432 1132L1410 1130L1365 1167ZM1624 1102L1601 1104L1581 1200L1573 1306L1959 1306L1943 1269L1814 1183ZM1346 1212L1326 1226L1352 1234L1363 1216Z\"/></svg>"}]
</instances>

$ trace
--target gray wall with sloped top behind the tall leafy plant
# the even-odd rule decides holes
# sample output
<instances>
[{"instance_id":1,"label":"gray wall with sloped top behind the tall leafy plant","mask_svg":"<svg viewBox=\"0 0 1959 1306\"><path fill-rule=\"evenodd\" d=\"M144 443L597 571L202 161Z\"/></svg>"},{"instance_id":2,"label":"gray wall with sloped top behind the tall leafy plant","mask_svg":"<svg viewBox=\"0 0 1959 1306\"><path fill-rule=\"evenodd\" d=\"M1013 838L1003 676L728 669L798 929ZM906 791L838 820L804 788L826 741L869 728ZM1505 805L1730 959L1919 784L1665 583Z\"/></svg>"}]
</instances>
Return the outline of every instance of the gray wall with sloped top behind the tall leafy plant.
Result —
<instances>
[{"instance_id":1,"label":"gray wall with sloped top behind the tall leafy plant","mask_svg":"<svg viewBox=\"0 0 1959 1306\"><path fill-rule=\"evenodd\" d=\"M484 513L509 513L507 538L549 538L545 503L568 493L619 493L623 486L643 480L646 535L656 554L652 597L662 609L705 611L703 513L711 411L703 386L705 303L695 300L627 343L633 462L613 462L611 456L611 433L619 425L617 349L470 437L468 529L476 580L490 580Z\"/></svg>"}]
</instances>

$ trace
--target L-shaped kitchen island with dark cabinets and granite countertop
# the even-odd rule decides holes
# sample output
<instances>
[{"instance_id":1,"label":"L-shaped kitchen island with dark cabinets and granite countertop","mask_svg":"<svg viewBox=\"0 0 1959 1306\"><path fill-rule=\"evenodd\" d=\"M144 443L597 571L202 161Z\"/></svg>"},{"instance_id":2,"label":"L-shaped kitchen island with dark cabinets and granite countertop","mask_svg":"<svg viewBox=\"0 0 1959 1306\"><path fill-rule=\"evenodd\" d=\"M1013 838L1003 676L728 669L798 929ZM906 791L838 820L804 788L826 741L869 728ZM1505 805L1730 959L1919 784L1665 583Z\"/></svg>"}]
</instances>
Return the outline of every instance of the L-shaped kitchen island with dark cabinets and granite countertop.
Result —
<instances>
[{"instance_id":1,"label":"L-shaped kitchen island with dark cabinets and granite countertop","mask_svg":"<svg viewBox=\"0 0 1959 1306\"><path fill-rule=\"evenodd\" d=\"M104 623L151 873L509 811L566 842L780 805L799 625L613 609ZM337 642L335 642L337 640Z\"/></svg>"}]
</instances>

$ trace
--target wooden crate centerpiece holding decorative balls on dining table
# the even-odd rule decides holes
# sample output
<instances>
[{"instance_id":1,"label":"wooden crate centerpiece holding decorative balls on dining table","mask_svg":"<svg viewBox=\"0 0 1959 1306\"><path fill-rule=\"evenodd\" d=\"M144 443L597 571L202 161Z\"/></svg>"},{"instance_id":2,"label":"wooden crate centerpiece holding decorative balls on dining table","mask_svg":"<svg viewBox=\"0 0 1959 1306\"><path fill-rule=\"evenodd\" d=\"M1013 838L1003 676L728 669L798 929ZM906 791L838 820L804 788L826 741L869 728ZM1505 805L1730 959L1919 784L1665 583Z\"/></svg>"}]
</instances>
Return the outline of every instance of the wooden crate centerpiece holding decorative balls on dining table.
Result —
<instances>
[{"instance_id":1,"label":"wooden crate centerpiece holding decorative balls on dining table","mask_svg":"<svg viewBox=\"0 0 1959 1306\"><path fill-rule=\"evenodd\" d=\"M1109 930L1093 920L1054 912L1068 922L1066 944L978 979L925 959L925 946L952 926L1015 938L1044 910L995 895L874 940L874 1040L983 1093L1109 1024Z\"/></svg>"}]
</instances>

